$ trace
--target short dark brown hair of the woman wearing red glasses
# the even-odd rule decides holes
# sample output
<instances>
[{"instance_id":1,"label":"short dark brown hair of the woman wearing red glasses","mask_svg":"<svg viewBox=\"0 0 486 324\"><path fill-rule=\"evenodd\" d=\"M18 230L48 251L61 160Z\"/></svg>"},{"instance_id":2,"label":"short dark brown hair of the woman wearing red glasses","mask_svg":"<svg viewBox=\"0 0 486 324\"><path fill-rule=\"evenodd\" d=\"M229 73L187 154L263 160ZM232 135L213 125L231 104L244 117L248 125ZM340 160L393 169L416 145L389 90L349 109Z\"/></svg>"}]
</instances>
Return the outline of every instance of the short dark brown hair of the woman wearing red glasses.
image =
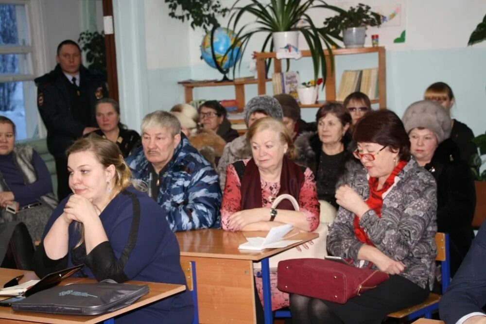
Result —
<instances>
[{"instance_id":1,"label":"short dark brown hair of the woman wearing red glasses","mask_svg":"<svg viewBox=\"0 0 486 324\"><path fill-rule=\"evenodd\" d=\"M355 142L378 143L399 152L399 159L410 160L410 139L393 111L370 111L354 126Z\"/></svg>"}]
</instances>

